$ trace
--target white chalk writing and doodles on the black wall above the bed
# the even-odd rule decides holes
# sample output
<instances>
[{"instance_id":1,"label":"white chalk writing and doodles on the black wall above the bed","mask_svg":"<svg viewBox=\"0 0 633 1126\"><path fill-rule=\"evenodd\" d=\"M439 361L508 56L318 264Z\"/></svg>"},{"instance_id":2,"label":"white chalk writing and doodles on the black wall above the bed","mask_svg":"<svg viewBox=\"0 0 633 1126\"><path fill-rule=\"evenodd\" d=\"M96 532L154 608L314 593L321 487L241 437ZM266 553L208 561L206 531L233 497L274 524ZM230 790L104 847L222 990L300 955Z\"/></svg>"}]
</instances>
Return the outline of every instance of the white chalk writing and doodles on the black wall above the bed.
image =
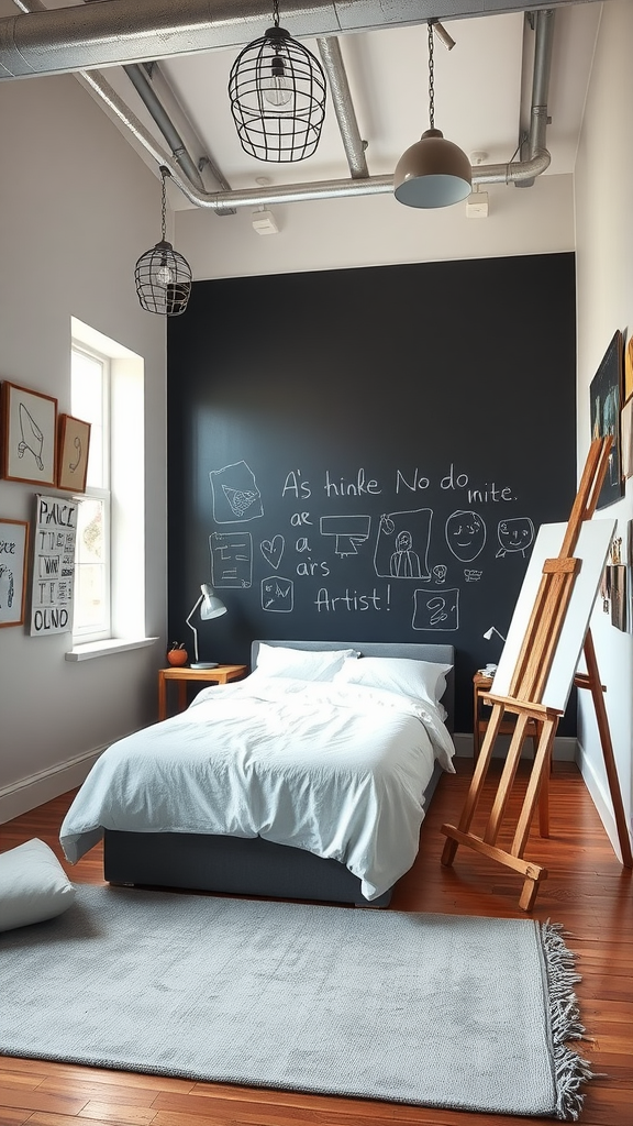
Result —
<instances>
[{"instance_id":1,"label":"white chalk writing and doodles on the black wall above the bed","mask_svg":"<svg viewBox=\"0 0 633 1126\"><path fill-rule=\"evenodd\" d=\"M211 470L221 526L208 537L213 586L246 590L255 579L260 608L273 614L395 611L412 631L458 629L466 588L526 557L534 524L514 515L521 501L511 485L476 482L454 462L444 468L396 466L381 479L364 466L297 466L276 480L266 472L265 486L243 459ZM255 520L259 535L243 527Z\"/></svg>"}]
</instances>

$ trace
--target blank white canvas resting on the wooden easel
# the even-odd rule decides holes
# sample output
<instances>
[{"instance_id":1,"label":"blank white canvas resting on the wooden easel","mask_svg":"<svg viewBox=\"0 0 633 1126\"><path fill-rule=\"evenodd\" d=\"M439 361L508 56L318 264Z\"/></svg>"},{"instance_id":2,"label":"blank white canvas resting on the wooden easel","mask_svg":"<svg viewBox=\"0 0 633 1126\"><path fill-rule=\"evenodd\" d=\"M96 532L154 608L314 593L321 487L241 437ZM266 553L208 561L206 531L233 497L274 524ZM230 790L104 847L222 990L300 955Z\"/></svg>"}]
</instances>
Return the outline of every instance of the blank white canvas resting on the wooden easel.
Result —
<instances>
[{"instance_id":1,"label":"blank white canvas resting on the wooden easel","mask_svg":"<svg viewBox=\"0 0 633 1126\"><path fill-rule=\"evenodd\" d=\"M573 549L573 555L581 561L581 565L574 579L570 604L541 700L545 707L558 712L564 712L569 700L615 526L615 520L585 521ZM543 524L538 530L503 652L494 673L491 695L510 695L514 671L543 578L543 564L545 560L559 555L567 527L567 524Z\"/></svg>"}]
</instances>

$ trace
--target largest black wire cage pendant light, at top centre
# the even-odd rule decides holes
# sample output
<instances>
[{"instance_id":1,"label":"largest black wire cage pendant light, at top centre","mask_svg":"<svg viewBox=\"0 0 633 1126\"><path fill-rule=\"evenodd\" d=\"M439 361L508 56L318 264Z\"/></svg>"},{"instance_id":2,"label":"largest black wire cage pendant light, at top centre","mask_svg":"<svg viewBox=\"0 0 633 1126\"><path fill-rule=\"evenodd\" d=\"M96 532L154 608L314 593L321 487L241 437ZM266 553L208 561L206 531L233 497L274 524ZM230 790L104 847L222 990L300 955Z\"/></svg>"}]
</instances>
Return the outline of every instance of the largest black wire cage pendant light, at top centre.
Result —
<instances>
[{"instance_id":1,"label":"largest black wire cage pendant light, at top centre","mask_svg":"<svg viewBox=\"0 0 633 1126\"><path fill-rule=\"evenodd\" d=\"M326 116L326 77L307 47L274 27L238 55L229 78L231 111L244 152L285 163L312 157Z\"/></svg>"}]
</instances>

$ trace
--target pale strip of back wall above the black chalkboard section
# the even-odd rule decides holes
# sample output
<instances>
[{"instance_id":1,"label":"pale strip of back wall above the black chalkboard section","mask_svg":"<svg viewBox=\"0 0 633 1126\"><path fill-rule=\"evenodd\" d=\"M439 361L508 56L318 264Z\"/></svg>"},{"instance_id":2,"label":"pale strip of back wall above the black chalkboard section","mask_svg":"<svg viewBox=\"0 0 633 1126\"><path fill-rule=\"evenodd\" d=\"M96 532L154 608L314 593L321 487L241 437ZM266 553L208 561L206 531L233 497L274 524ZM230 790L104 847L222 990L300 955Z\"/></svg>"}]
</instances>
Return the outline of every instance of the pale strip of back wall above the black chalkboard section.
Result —
<instances>
[{"instance_id":1,"label":"pale strip of back wall above the black chalkboard section","mask_svg":"<svg viewBox=\"0 0 633 1126\"><path fill-rule=\"evenodd\" d=\"M271 235L253 231L250 208L222 217L181 211L176 244L198 280L573 250L571 176L542 176L532 188L489 185L488 194L488 218L467 218L465 204L404 207L392 194L271 207Z\"/></svg>"}]
</instances>

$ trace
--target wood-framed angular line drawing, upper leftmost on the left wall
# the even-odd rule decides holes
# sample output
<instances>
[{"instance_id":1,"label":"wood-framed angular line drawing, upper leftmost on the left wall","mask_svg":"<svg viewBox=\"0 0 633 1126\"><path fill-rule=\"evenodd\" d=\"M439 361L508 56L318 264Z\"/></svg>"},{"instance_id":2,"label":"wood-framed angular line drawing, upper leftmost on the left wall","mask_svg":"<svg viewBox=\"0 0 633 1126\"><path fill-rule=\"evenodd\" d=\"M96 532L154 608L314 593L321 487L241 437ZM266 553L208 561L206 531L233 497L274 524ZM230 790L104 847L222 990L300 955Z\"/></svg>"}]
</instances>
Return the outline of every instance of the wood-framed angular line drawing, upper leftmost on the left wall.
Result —
<instances>
[{"instance_id":1,"label":"wood-framed angular line drawing, upper leftmost on the left wall","mask_svg":"<svg viewBox=\"0 0 633 1126\"><path fill-rule=\"evenodd\" d=\"M57 400L38 391L2 383L2 459L7 481L55 484Z\"/></svg>"}]
</instances>

